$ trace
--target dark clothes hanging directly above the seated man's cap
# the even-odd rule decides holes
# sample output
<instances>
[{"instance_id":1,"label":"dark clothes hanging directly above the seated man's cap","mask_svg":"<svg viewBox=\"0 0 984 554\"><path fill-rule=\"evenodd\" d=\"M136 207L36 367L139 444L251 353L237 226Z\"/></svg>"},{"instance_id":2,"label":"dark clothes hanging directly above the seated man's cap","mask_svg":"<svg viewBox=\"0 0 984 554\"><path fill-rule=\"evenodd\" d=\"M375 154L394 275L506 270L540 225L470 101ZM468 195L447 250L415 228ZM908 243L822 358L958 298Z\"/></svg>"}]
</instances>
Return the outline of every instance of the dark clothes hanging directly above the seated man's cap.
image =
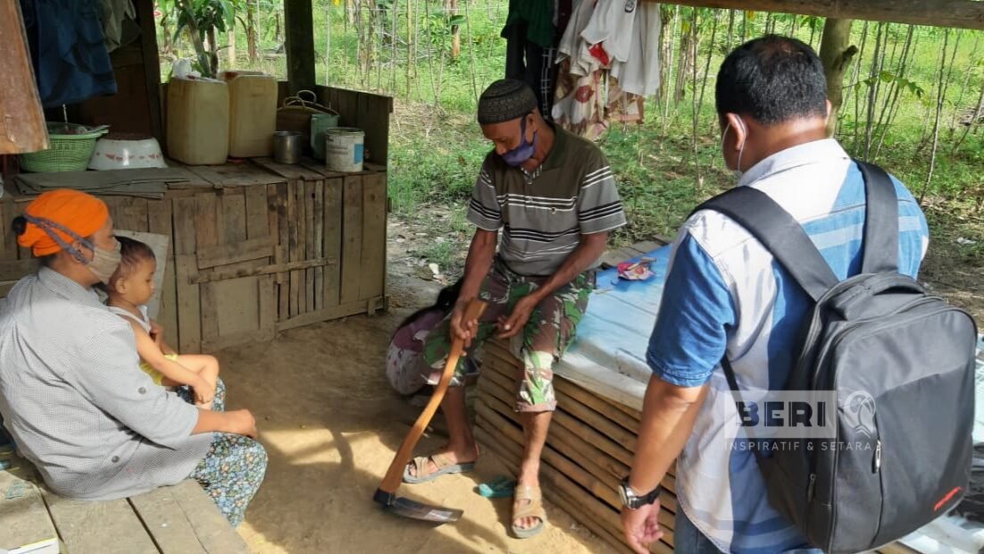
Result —
<instances>
[{"instance_id":1,"label":"dark clothes hanging directly above the seated man's cap","mask_svg":"<svg viewBox=\"0 0 984 554\"><path fill-rule=\"evenodd\" d=\"M557 81L557 22L560 0L510 0L502 30L506 43L506 78L523 81L536 94L548 121ZM566 0L570 12L571 0Z\"/></svg>"}]
</instances>

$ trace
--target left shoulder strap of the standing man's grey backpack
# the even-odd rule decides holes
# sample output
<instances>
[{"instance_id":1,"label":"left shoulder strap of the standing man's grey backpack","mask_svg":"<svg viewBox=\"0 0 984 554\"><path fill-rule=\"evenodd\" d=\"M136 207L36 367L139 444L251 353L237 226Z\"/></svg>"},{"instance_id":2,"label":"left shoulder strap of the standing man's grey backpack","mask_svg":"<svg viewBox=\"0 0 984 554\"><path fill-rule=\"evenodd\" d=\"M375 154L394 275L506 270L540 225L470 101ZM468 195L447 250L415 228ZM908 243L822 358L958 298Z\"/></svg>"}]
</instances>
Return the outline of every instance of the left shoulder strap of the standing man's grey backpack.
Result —
<instances>
[{"instance_id":1,"label":"left shoulder strap of the standing man's grey backpack","mask_svg":"<svg viewBox=\"0 0 984 554\"><path fill-rule=\"evenodd\" d=\"M694 212L712 210L727 215L761 242L803 290L820 300L838 278L814 246L799 221L766 193L736 187L711 198Z\"/></svg>"}]
</instances>

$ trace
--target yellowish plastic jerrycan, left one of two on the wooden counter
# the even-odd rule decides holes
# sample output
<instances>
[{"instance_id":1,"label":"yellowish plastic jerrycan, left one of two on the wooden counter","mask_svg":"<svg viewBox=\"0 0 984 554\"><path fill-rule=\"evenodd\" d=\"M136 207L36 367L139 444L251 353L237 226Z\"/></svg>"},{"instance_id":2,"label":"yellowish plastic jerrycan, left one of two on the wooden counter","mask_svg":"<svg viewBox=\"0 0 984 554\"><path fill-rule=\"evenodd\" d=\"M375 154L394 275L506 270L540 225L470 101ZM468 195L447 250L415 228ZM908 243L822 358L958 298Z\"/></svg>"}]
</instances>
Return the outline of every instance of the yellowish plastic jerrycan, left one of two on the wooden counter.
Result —
<instances>
[{"instance_id":1,"label":"yellowish plastic jerrycan, left one of two on the wooden counter","mask_svg":"<svg viewBox=\"0 0 984 554\"><path fill-rule=\"evenodd\" d=\"M229 154L229 89L222 81L172 77L167 83L167 154L189 165Z\"/></svg>"}]
</instances>

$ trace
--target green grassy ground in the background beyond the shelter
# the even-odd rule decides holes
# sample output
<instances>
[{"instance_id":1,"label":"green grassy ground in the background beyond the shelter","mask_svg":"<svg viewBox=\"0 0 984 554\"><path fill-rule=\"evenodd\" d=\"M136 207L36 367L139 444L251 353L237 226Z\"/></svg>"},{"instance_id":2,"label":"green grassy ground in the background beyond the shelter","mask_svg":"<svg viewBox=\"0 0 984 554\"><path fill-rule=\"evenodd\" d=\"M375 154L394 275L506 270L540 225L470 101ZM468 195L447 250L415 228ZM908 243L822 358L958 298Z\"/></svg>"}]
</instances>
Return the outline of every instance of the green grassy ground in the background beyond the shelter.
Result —
<instances>
[{"instance_id":1,"label":"green grassy ground in the background beyond the shelter","mask_svg":"<svg viewBox=\"0 0 984 554\"><path fill-rule=\"evenodd\" d=\"M440 12L442 3L429 4L431 17L425 17L424 0L416 0L414 8L414 47L406 46L406 0L393 8L394 0L377 0L380 10L372 16L363 12L357 23L363 30L369 29L370 17L382 25L375 27L371 41L369 70L360 65L359 56L366 52L359 49L354 25L345 17L344 0L314 0L315 49L318 52L318 82L332 86L349 87L389 93L397 98L393 114L390 149L390 200L394 210L403 216L414 217L424 207L452 206L452 214L459 217L451 222L451 239L466 240L470 227L463 220L463 205L477 175L479 166L491 146L481 136L474 122L476 93L503 75L506 43L499 38L505 22L508 2L505 0L473 0L467 3L466 25L461 27L461 56L450 56L451 31L449 20ZM464 15L464 2L461 15ZM675 9L664 7L664 12ZM670 27L679 40L681 27L687 28L693 17L690 8L681 8L680 23ZM650 98L646 103L646 124L642 126L613 125L598 142L614 168L623 196L630 225L616 236L618 242L647 239L653 235L672 235L690 210L707 197L733 183L720 160L713 109L713 78L716 68L727 53L727 13L721 12L714 44L709 43L711 10L701 10L700 30L702 41L698 51L699 82L696 91L688 82L684 98L678 104L657 105ZM397 39L394 41L394 17ZM740 40L742 15L738 15L732 32L731 45ZM766 16L756 14L747 20L748 36L765 31ZM266 22L266 34L261 36L261 50L277 46L275 33L271 31L270 18ZM282 21L282 20L281 20ZM791 22L788 16L779 16L776 31L786 32ZM795 35L809 40L811 31L806 18L796 20ZM854 42L860 45L864 25L856 22L853 28ZM892 25L886 46L897 56L900 41L907 28ZM853 66L845 79L846 97L840 115L838 139L850 154L861 154L864 126L867 119L865 101L869 85L865 84L871 73L872 52L875 48L875 24L869 25L869 38L864 55L856 58L860 63L857 82ZM925 194L926 208L933 225L934 237L953 242L964 237L977 242L960 245L953 255L969 262L984 257L984 236L976 221L984 205L984 125L970 134L957 151L953 151L956 139L963 127L952 129L953 113L976 102L980 87L984 84L984 33L980 31L949 31L949 48L959 38L954 58L953 81L946 96L941 131L940 148L932 183L924 191L927 180L931 146L926 140L928 113L935 110L931 96L935 93L937 68L940 63L945 34L948 31L917 28L914 62L906 79L914 84L922 95L903 92L898 116L886 134L885 144L877 161L905 182L917 197ZM819 45L820 32L814 33L813 44ZM285 77L285 60L281 56L267 55L251 64L246 59L246 38L242 28L237 28L236 65L240 69L262 69L277 77ZM897 45L896 45L897 43ZM677 47L679 43L677 43ZM693 97L703 86L707 54L711 54L709 75L700 114L697 148L692 136ZM187 55L187 50L186 50ZM474 64L471 60L474 58ZM948 63L950 55L948 54ZM409 60L409 63L408 63ZM223 62L225 60L223 59ZM409 65L409 82L407 66ZM169 68L167 68L169 70ZM887 62L884 71L896 71ZM166 75L166 70L165 70ZM687 76L687 79L692 79ZM964 83L967 87L964 89ZM889 86L881 82L880 86ZM855 117L855 100L860 100L858 117ZM664 113L668 114L664 118ZM879 110L876 110L876 117ZM932 118L929 120L932 125ZM861 137L860 140L856 137ZM696 150L696 153L695 153ZM699 163L700 178L697 165ZM441 223L444 224L444 223ZM455 247L452 242L435 242L420 252L422 256L441 264L453 263Z\"/></svg>"}]
</instances>

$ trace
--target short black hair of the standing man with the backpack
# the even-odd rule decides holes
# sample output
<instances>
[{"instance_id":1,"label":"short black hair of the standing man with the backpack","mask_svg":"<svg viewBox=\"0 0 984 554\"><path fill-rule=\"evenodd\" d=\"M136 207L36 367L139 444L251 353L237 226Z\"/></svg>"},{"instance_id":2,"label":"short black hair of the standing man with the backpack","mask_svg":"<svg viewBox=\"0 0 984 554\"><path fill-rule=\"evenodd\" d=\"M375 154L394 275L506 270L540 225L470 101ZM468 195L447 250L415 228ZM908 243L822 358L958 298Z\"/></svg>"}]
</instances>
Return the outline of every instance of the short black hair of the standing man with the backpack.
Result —
<instances>
[{"instance_id":1,"label":"short black hair of the standing man with the backpack","mask_svg":"<svg viewBox=\"0 0 984 554\"><path fill-rule=\"evenodd\" d=\"M735 48L721 63L717 114L748 114L774 125L827 115L827 78L817 53L801 40L767 34Z\"/></svg>"}]
</instances>

